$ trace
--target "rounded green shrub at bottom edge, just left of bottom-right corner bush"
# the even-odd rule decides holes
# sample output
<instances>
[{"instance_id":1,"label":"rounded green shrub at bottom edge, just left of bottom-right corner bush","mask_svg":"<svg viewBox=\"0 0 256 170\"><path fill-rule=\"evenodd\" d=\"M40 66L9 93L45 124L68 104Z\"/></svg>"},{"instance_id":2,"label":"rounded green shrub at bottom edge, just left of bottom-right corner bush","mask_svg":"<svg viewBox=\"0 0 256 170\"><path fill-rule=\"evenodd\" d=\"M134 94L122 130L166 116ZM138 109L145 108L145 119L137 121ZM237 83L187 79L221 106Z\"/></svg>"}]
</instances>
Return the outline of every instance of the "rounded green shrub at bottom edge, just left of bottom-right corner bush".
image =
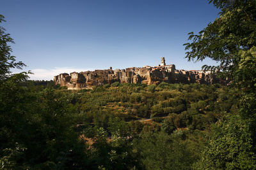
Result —
<instances>
[{"instance_id":1,"label":"rounded green shrub at bottom edge, just left of bottom-right corner bush","mask_svg":"<svg viewBox=\"0 0 256 170\"><path fill-rule=\"evenodd\" d=\"M145 169L191 169L200 147L186 138L182 131L175 131L172 136L163 131L147 132L135 142L136 152L141 154Z\"/></svg>"}]
</instances>

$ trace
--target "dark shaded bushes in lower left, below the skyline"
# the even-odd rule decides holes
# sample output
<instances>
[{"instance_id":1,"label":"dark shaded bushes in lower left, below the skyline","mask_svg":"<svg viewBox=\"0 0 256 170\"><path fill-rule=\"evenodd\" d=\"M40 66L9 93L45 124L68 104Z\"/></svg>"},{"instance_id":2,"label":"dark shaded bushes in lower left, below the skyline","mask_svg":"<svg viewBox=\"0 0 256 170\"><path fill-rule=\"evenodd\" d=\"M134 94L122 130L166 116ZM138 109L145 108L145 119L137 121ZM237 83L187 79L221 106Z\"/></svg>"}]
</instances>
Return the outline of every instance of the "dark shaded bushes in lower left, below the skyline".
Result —
<instances>
[{"instance_id":1,"label":"dark shaded bushes in lower left, below the skyline","mask_svg":"<svg viewBox=\"0 0 256 170\"><path fill-rule=\"evenodd\" d=\"M1 85L0 96L3 158L8 157L6 149L16 150L15 143L19 143L26 150L22 157L12 157L12 161L21 162L16 166L43 166L49 161L56 167L83 164L79 161L86 156L84 145L72 130L67 97L52 90L34 94L12 81Z\"/></svg>"}]
</instances>

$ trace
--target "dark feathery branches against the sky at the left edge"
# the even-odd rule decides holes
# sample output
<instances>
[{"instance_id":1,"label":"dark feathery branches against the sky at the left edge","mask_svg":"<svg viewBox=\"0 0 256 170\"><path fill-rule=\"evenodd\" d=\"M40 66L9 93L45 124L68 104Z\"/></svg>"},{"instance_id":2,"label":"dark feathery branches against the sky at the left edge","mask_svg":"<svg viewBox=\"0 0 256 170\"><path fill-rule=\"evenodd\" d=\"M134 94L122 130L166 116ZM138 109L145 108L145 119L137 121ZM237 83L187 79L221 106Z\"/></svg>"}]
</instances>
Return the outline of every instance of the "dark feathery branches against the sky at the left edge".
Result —
<instances>
[{"instance_id":1,"label":"dark feathery branches against the sky at the left edge","mask_svg":"<svg viewBox=\"0 0 256 170\"><path fill-rule=\"evenodd\" d=\"M4 16L0 15L0 23L2 22L5 22ZM23 62L15 62L15 56L11 55L12 48L9 45L14 41L5 31L4 27L0 26L0 81L10 77L11 68L21 69L26 66Z\"/></svg>"}]
</instances>

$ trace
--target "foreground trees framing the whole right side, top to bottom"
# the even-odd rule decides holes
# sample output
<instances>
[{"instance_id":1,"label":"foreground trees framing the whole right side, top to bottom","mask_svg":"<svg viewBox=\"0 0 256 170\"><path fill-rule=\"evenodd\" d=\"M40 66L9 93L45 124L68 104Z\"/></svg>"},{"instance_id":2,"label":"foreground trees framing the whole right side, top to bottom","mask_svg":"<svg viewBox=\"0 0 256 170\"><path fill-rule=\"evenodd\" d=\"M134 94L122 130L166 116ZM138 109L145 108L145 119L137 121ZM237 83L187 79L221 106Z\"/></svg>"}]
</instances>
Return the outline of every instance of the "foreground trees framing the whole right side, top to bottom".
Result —
<instances>
[{"instance_id":1,"label":"foreground trees framing the whole right side, top to bottom","mask_svg":"<svg viewBox=\"0 0 256 170\"><path fill-rule=\"evenodd\" d=\"M212 127L196 169L255 169L256 143L256 1L209 0L220 17L199 34L189 32L188 60L216 60L203 66L232 80L238 110ZM224 118L226 115L223 116Z\"/></svg>"}]
</instances>

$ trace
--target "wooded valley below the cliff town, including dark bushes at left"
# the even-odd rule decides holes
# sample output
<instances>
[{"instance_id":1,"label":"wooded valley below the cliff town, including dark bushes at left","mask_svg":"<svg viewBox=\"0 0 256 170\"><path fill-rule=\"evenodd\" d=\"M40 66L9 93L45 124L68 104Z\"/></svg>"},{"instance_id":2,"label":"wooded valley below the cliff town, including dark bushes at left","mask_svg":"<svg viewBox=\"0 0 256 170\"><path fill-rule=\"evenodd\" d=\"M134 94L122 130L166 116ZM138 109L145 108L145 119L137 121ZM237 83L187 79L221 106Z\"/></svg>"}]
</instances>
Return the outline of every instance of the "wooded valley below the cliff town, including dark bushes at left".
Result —
<instances>
[{"instance_id":1,"label":"wooded valley below the cliff town, including dark bushes at left","mask_svg":"<svg viewBox=\"0 0 256 170\"><path fill-rule=\"evenodd\" d=\"M218 114L236 108L220 85L42 84L2 85L4 167L187 169Z\"/></svg>"}]
</instances>

